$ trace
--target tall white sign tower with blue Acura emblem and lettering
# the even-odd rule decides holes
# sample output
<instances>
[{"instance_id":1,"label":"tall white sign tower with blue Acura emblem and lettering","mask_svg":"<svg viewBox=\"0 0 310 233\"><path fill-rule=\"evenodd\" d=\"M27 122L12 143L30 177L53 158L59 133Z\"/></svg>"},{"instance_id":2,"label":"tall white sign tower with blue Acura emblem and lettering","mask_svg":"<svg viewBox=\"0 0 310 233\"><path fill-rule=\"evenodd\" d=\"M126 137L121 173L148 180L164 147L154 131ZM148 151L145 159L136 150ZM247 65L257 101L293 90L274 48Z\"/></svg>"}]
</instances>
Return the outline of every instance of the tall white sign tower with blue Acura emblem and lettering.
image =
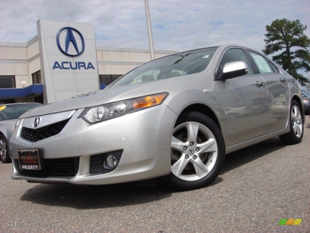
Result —
<instances>
[{"instance_id":1,"label":"tall white sign tower with blue Acura emblem and lettering","mask_svg":"<svg viewBox=\"0 0 310 233\"><path fill-rule=\"evenodd\" d=\"M99 90L94 25L37 24L44 103Z\"/></svg>"}]
</instances>

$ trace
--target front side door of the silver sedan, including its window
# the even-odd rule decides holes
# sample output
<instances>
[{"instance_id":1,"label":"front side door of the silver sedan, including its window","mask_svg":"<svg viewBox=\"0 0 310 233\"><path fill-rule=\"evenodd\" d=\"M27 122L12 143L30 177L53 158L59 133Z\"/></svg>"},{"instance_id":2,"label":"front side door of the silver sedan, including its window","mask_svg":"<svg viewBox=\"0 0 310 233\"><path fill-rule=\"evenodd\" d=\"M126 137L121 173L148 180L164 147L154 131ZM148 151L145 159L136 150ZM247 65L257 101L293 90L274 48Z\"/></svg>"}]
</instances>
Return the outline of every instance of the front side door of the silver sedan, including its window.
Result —
<instances>
[{"instance_id":1,"label":"front side door of the silver sedan, including its window","mask_svg":"<svg viewBox=\"0 0 310 233\"><path fill-rule=\"evenodd\" d=\"M226 63L236 61L247 64L246 75L215 81L226 122L227 146L265 134L269 117L266 83L261 75L254 73L243 49L226 50L216 74L221 74Z\"/></svg>"}]
</instances>

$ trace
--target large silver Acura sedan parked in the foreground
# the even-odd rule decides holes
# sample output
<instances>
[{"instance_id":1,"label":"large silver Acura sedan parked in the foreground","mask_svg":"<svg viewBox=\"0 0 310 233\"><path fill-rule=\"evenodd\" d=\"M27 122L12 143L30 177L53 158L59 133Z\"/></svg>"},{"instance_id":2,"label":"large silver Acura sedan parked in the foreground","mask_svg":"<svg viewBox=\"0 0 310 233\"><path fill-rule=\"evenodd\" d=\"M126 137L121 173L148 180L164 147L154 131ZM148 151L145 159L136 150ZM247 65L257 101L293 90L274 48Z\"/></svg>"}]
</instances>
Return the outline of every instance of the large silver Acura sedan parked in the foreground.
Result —
<instances>
[{"instance_id":1,"label":"large silver Acura sedan parked in the foreground","mask_svg":"<svg viewBox=\"0 0 310 233\"><path fill-rule=\"evenodd\" d=\"M275 136L298 144L304 119L296 80L263 54L229 44L176 53L22 115L10 139L12 178L105 185L162 177L197 189L228 153Z\"/></svg>"}]
</instances>

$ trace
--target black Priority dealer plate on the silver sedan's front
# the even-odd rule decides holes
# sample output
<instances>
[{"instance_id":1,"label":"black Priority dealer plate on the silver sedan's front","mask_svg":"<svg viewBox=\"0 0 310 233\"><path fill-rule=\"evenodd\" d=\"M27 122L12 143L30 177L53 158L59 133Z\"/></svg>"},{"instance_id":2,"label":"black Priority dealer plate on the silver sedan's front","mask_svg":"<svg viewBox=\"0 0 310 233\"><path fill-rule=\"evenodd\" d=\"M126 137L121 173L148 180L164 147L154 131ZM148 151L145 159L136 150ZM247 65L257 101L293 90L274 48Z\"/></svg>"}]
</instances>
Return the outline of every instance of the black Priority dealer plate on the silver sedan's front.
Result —
<instances>
[{"instance_id":1,"label":"black Priority dealer plate on the silver sedan's front","mask_svg":"<svg viewBox=\"0 0 310 233\"><path fill-rule=\"evenodd\" d=\"M41 170L39 149L18 150L18 161L21 170Z\"/></svg>"}]
</instances>

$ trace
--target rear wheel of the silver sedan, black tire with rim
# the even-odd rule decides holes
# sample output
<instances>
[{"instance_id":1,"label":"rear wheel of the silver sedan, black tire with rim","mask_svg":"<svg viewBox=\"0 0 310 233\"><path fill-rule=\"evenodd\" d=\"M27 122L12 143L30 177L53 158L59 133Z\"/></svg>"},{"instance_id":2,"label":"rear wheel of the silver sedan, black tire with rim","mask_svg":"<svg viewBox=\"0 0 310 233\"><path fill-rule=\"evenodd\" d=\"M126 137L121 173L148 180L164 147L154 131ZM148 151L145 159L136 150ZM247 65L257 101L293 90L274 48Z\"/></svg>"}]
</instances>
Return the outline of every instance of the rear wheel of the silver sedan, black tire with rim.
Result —
<instances>
[{"instance_id":1,"label":"rear wheel of the silver sedan, black tire with rim","mask_svg":"<svg viewBox=\"0 0 310 233\"><path fill-rule=\"evenodd\" d=\"M293 100L290 106L290 132L280 135L283 144L294 145L303 139L303 118L299 104Z\"/></svg>"}]
</instances>

